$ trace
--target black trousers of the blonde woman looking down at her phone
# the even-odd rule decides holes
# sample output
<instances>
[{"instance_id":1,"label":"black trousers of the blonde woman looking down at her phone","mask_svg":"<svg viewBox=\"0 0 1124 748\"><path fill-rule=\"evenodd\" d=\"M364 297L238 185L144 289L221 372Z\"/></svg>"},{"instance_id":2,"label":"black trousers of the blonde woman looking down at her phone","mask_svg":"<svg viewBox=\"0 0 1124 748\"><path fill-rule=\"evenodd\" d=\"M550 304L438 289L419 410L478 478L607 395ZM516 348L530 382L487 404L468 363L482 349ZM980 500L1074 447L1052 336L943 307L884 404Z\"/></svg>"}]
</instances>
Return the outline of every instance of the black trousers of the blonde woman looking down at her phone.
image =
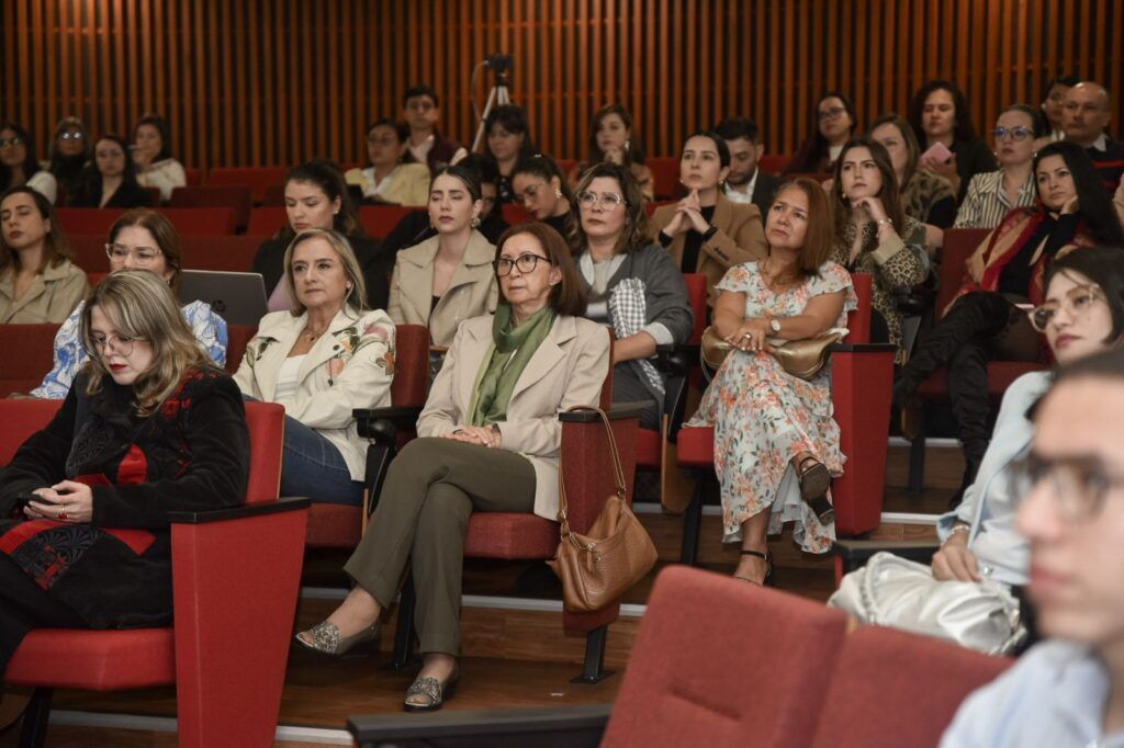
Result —
<instances>
[{"instance_id":1,"label":"black trousers of the blonde woman looking down at her phone","mask_svg":"<svg viewBox=\"0 0 1124 748\"><path fill-rule=\"evenodd\" d=\"M7 554L0 553L0 675L34 628L89 628L74 609L52 598Z\"/></svg>"}]
</instances>

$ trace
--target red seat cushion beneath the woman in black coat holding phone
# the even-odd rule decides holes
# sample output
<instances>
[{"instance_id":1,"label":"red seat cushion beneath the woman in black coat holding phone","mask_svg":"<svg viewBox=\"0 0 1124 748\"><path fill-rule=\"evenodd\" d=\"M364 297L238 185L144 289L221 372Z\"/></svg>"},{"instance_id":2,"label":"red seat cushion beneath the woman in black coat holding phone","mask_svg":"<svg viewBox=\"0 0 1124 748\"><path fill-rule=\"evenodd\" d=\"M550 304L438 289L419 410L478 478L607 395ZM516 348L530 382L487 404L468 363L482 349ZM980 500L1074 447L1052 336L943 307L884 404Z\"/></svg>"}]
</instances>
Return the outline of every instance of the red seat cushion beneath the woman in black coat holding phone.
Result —
<instances>
[{"instance_id":1,"label":"red seat cushion beneath the woman in black coat holding phone","mask_svg":"<svg viewBox=\"0 0 1124 748\"><path fill-rule=\"evenodd\" d=\"M174 683L174 629L36 629L16 650L4 682L92 691Z\"/></svg>"}]
</instances>

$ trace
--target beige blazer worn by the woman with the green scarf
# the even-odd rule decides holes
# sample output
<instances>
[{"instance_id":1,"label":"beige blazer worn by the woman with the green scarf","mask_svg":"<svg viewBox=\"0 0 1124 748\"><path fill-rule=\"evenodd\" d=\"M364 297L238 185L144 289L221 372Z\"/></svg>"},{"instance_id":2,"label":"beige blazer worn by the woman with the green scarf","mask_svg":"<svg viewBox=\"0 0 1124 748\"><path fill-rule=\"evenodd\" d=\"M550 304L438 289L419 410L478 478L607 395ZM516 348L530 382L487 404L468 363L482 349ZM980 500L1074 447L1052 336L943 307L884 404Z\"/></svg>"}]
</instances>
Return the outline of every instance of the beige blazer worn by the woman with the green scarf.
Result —
<instances>
[{"instance_id":1,"label":"beige blazer worn by the woman with the green scarf","mask_svg":"<svg viewBox=\"0 0 1124 748\"><path fill-rule=\"evenodd\" d=\"M492 349L491 326L490 316L477 317L456 330L418 418L418 436L439 437L465 425L477 377ZM559 513L559 411L597 405L608 373L609 334L605 326L580 317L559 317L515 383L507 420L496 426L500 448L522 454L535 468L538 517L556 520Z\"/></svg>"}]
</instances>

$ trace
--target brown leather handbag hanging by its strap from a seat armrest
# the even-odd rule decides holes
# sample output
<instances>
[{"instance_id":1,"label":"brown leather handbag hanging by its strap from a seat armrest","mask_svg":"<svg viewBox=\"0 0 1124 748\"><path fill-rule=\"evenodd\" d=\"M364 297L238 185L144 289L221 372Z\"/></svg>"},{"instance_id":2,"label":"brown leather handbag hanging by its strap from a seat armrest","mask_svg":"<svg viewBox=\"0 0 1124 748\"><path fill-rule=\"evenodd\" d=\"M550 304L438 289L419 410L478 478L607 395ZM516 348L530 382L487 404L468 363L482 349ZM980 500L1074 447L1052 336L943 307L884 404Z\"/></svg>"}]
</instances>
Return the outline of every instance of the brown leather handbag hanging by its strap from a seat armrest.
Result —
<instances>
[{"instance_id":1,"label":"brown leather handbag hanging by its strap from a seat armrest","mask_svg":"<svg viewBox=\"0 0 1124 748\"><path fill-rule=\"evenodd\" d=\"M609 458L617 492L605 500L589 532L579 535L566 520L565 481L559 467L559 521L562 539L554 560L546 562L562 580L563 605L571 613L589 613L611 604L628 587L652 571L656 562L655 545L647 530L625 501L625 474L620 454L613 438L609 419L599 408L579 405L575 410L596 411L605 423L609 441ZM561 463L561 455L559 463Z\"/></svg>"}]
</instances>

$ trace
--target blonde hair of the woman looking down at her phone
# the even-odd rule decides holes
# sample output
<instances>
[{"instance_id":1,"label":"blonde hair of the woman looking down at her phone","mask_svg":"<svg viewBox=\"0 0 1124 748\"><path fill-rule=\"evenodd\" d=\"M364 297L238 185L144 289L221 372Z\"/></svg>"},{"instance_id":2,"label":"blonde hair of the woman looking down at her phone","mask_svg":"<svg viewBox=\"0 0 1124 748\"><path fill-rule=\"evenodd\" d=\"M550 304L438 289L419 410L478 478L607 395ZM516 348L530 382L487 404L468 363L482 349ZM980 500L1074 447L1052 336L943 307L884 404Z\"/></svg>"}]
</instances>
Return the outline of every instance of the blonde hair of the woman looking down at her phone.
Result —
<instances>
[{"instance_id":1,"label":"blonde hair of the woman looking down at her phone","mask_svg":"<svg viewBox=\"0 0 1124 748\"><path fill-rule=\"evenodd\" d=\"M199 347L164 279L148 271L121 270L90 291L82 310L82 343L90 353L85 370L88 395L97 394L102 380L109 376L101 356L96 355L91 330L94 307L118 332L152 347L152 363L133 383L138 416L152 416L190 370L216 368Z\"/></svg>"}]
</instances>

